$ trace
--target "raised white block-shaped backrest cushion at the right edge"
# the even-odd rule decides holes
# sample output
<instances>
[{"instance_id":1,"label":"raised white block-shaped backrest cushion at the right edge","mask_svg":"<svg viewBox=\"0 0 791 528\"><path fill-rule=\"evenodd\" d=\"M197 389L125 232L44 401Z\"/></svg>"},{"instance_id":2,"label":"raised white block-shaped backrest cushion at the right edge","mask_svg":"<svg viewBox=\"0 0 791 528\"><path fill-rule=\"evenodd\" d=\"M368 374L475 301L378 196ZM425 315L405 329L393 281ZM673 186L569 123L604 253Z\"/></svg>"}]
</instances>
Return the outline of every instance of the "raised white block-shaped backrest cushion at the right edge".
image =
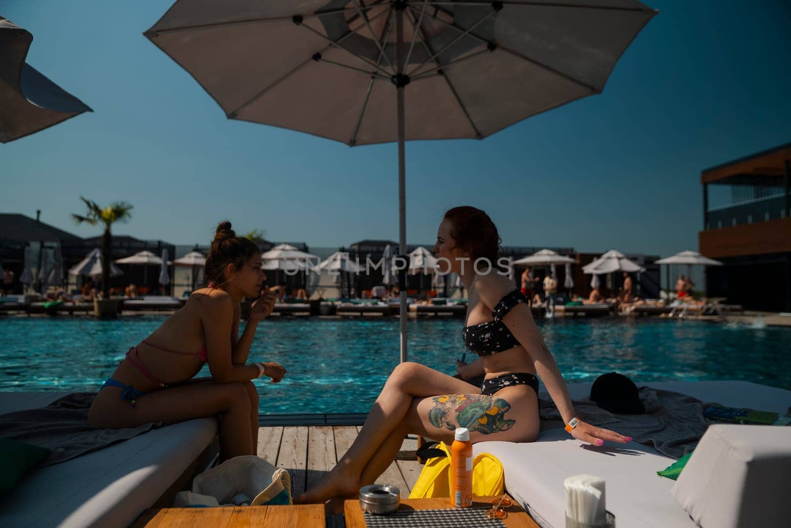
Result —
<instances>
[{"instance_id":1,"label":"raised white block-shaped backrest cushion at the right edge","mask_svg":"<svg viewBox=\"0 0 791 528\"><path fill-rule=\"evenodd\" d=\"M672 488L700 526L789 526L791 428L710 426Z\"/></svg>"}]
</instances>

